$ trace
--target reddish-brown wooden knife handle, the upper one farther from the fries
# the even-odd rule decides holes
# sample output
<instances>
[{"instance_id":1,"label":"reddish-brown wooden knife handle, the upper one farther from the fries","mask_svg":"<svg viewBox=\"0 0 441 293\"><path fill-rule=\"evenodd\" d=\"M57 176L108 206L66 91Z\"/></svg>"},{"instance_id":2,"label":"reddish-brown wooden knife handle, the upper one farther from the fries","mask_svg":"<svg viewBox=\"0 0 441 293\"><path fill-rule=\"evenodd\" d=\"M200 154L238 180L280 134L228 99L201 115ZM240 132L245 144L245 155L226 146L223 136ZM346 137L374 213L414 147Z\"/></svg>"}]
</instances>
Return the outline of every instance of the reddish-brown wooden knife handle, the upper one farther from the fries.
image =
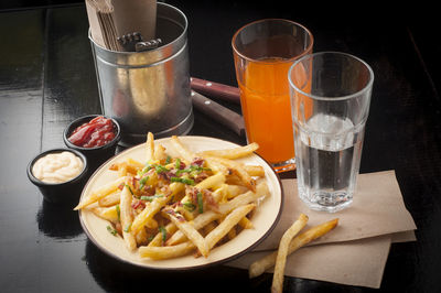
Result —
<instances>
[{"instance_id":1,"label":"reddish-brown wooden knife handle, the upper one farther from the fries","mask_svg":"<svg viewBox=\"0 0 441 293\"><path fill-rule=\"evenodd\" d=\"M240 104L240 93L237 87L208 82L196 77L192 77L190 80L192 89L201 93L202 95L207 95L226 101Z\"/></svg>"}]
</instances>

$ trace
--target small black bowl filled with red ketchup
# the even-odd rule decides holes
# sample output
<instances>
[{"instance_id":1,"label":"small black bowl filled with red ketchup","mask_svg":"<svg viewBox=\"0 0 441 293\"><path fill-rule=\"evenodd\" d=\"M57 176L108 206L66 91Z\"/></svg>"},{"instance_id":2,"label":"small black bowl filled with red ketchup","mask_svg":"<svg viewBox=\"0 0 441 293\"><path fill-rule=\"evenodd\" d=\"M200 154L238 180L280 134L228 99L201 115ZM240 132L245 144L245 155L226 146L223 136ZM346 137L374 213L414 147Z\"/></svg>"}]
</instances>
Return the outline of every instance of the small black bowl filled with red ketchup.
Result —
<instances>
[{"instance_id":1,"label":"small black bowl filled with red ketchup","mask_svg":"<svg viewBox=\"0 0 441 293\"><path fill-rule=\"evenodd\" d=\"M119 123L101 115L80 117L72 121L63 133L66 146L82 152L92 172L115 155L120 139Z\"/></svg>"}]
</instances>

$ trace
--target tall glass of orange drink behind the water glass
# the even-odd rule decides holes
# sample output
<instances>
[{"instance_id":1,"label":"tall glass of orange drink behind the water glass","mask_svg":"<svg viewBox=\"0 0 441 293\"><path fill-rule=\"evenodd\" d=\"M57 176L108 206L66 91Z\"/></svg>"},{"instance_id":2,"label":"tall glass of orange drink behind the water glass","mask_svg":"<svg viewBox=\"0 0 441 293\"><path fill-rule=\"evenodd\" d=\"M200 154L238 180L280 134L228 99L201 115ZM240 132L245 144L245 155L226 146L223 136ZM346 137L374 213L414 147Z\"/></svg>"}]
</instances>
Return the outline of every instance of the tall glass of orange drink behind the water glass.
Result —
<instances>
[{"instance_id":1,"label":"tall glass of orange drink behind the water glass","mask_svg":"<svg viewBox=\"0 0 441 293\"><path fill-rule=\"evenodd\" d=\"M303 25L263 19L239 29L232 41L248 143L277 172L295 169L288 70L312 53L313 36Z\"/></svg>"}]
</instances>

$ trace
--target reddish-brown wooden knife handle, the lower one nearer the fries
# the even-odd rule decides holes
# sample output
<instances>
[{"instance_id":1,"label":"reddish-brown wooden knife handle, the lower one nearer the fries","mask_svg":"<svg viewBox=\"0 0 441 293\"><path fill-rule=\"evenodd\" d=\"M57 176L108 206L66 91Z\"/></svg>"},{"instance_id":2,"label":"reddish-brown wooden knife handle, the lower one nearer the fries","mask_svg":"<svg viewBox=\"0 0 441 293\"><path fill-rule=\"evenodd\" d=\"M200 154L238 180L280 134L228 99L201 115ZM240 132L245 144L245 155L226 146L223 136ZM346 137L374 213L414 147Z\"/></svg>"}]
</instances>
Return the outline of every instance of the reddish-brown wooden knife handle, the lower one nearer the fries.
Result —
<instances>
[{"instance_id":1,"label":"reddish-brown wooden knife handle, the lower one nearer the fries","mask_svg":"<svg viewBox=\"0 0 441 293\"><path fill-rule=\"evenodd\" d=\"M205 115L212 117L217 122L229 128L239 137L245 135L244 118L237 112L208 99L207 97L192 90L193 106Z\"/></svg>"}]
</instances>

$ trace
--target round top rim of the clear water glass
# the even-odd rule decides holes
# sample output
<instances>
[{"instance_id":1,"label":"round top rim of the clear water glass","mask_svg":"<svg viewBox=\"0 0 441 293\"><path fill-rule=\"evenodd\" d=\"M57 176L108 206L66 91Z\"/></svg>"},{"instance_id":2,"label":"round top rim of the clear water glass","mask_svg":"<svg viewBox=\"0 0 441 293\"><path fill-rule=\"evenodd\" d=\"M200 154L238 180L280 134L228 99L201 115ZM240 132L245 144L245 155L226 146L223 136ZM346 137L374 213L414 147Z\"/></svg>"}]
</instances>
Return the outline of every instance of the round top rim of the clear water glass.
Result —
<instances>
[{"instance_id":1,"label":"round top rim of the clear water glass","mask_svg":"<svg viewBox=\"0 0 441 293\"><path fill-rule=\"evenodd\" d=\"M301 90L300 88L298 88L294 85L294 83L292 83L292 80L291 80L292 68L294 68L298 64L300 64L304 59L312 58L312 57L319 56L319 55L325 55L325 54L348 56L348 57L351 57L353 59L356 59L356 61L361 62L364 66L366 66L367 70L369 72L369 82L361 90L355 91L355 93L353 93L351 95L341 96L341 97L323 97L323 96L318 96L318 95L311 95L311 94L305 93L305 91ZM356 96L359 96L361 94L363 94L363 93L365 93L365 91L367 91L367 90L369 90L372 88L372 86L374 84L374 72L373 72L373 69L370 68L370 66L366 62L364 62L363 59L361 59L361 58L358 58L358 57L356 57L356 56L354 56L352 54L344 53L344 52L336 52L336 51L325 51L325 52L318 52L318 53L313 53L313 54L308 54L305 56L302 56L298 61L295 61L294 64L292 64L292 66L290 67L289 72L288 72L288 82L289 82L290 86L292 88L294 88L297 91L299 91L300 94L302 94L302 95L304 95L306 97L315 99L315 100L347 100L347 99L352 99L352 98L354 98Z\"/></svg>"}]
</instances>

